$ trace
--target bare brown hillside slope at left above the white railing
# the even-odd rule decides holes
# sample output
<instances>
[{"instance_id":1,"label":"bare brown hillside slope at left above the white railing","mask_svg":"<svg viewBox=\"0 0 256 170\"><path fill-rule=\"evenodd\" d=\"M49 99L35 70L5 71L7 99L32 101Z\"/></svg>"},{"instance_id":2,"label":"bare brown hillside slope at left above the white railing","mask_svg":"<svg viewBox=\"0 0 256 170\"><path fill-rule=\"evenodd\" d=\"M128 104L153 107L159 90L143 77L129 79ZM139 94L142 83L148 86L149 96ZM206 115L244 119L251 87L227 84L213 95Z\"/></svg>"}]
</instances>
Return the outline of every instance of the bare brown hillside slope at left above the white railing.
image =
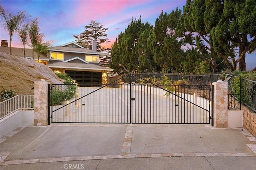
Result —
<instances>
[{"instance_id":1,"label":"bare brown hillside slope at left above the white railing","mask_svg":"<svg viewBox=\"0 0 256 170\"><path fill-rule=\"evenodd\" d=\"M42 63L0 53L0 91L12 88L16 94L34 94L34 82L41 79L50 84L63 84L58 76Z\"/></svg>"}]
</instances>

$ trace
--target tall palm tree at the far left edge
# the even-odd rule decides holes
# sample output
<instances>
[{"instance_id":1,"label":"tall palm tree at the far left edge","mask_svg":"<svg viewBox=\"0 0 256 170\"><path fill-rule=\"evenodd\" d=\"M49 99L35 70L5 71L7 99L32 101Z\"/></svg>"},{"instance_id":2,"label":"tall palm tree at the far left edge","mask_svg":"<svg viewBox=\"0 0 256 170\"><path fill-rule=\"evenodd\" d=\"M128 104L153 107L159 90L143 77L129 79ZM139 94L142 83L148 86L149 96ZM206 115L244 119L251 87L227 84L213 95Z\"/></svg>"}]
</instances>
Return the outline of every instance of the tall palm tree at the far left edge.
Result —
<instances>
[{"instance_id":1,"label":"tall palm tree at the far left edge","mask_svg":"<svg viewBox=\"0 0 256 170\"><path fill-rule=\"evenodd\" d=\"M0 6L0 15L3 18L1 20L2 24L10 35L10 54L12 54L12 36L14 32L18 31L20 24L26 19L25 11L20 11L17 15L13 15Z\"/></svg>"}]
</instances>

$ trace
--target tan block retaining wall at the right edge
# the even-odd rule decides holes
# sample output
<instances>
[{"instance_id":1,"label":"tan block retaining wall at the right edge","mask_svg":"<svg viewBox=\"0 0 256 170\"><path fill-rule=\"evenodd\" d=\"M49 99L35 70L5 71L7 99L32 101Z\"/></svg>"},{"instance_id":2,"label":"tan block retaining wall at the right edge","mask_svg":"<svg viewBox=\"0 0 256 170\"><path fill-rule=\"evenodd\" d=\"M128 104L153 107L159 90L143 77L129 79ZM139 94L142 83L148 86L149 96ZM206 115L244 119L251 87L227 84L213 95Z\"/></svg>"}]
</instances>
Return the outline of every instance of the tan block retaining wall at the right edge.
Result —
<instances>
[{"instance_id":1,"label":"tan block retaining wall at the right edge","mask_svg":"<svg viewBox=\"0 0 256 170\"><path fill-rule=\"evenodd\" d=\"M242 110L244 111L244 128L256 137L256 113L250 111L246 106L242 106Z\"/></svg>"}]
</instances>

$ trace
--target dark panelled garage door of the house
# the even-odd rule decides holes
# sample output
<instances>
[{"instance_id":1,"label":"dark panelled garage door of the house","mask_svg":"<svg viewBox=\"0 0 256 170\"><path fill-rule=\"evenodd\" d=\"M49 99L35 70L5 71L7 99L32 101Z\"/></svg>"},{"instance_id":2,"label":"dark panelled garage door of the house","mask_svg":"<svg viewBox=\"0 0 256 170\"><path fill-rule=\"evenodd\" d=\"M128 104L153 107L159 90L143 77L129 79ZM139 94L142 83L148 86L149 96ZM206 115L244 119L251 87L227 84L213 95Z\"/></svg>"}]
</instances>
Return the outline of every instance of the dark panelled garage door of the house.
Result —
<instances>
[{"instance_id":1,"label":"dark panelled garage door of the house","mask_svg":"<svg viewBox=\"0 0 256 170\"><path fill-rule=\"evenodd\" d=\"M101 84L101 72L66 70L66 74L76 80L78 85Z\"/></svg>"}]
</instances>

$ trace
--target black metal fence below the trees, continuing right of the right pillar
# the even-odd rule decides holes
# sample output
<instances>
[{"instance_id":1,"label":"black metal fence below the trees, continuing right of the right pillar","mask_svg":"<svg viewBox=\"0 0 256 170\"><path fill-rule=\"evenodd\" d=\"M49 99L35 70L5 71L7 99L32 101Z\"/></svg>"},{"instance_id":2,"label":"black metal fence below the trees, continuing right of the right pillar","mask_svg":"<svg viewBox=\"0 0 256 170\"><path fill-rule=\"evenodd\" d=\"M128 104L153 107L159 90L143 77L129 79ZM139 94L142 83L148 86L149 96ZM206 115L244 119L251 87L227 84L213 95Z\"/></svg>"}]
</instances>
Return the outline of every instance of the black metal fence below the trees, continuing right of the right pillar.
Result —
<instances>
[{"instance_id":1,"label":"black metal fence below the trees, continuing right of the right pillar","mask_svg":"<svg viewBox=\"0 0 256 170\"><path fill-rule=\"evenodd\" d=\"M210 84L220 79L230 78L228 81L228 109L241 109L241 104L244 104L256 112L256 82L239 78L234 74L142 73L137 75L144 78L162 78L165 75L170 80L186 80L189 84Z\"/></svg>"}]
</instances>

